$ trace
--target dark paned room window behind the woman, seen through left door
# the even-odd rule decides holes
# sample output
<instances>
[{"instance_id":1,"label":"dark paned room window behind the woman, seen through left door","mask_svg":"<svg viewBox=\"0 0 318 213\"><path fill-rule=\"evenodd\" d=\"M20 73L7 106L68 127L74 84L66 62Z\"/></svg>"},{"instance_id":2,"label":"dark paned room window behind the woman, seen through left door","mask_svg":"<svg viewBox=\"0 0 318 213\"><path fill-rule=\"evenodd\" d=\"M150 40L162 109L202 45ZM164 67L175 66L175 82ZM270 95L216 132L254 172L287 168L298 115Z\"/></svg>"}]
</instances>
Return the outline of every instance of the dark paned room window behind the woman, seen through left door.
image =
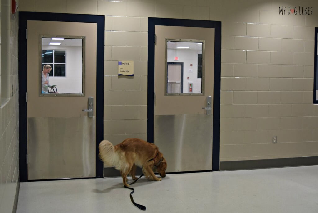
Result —
<instances>
[{"instance_id":1,"label":"dark paned room window behind the woman, seen through left door","mask_svg":"<svg viewBox=\"0 0 318 213\"><path fill-rule=\"evenodd\" d=\"M49 64L52 67L52 72L49 73L52 77L66 76L66 50L42 50L42 67Z\"/></svg>"}]
</instances>

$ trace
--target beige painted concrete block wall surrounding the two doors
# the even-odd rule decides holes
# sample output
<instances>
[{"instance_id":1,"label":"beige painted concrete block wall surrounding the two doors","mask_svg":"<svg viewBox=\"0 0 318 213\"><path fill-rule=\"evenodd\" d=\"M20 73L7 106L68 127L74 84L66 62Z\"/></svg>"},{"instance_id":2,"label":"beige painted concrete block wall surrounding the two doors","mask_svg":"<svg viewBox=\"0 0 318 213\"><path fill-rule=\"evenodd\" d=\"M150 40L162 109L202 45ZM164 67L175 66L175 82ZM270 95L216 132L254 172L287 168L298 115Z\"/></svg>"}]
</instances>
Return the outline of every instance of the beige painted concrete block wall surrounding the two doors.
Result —
<instances>
[{"instance_id":1,"label":"beige painted concrete block wall surrounding the two doors","mask_svg":"<svg viewBox=\"0 0 318 213\"><path fill-rule=\"evenodd\" d=\"M25 0L20 11L105 15L105 138L146 138L147 17L222 22L220 161L318 155L312 104L318 2ZM312 7L312 15L279 7ZM117 76L133 60L133 78ZM277 143L272 143L273 135Z\"/></svg>"}]
</instances>

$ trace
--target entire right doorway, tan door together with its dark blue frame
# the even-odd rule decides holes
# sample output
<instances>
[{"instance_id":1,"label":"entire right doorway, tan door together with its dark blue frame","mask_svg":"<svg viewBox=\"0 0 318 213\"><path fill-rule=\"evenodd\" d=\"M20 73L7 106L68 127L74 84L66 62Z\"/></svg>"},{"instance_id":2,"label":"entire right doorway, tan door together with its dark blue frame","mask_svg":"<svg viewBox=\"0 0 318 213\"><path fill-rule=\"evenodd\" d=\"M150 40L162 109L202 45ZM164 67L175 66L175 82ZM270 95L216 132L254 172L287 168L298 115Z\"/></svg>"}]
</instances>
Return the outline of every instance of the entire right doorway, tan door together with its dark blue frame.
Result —
<instances>
[{"instance_id":1,"label":"entire right doorway, tan door together with its dark blue frame","mask_svg":"<svg viewBox=\"0 0 318 213\"><path fill-rule=\"evenodd\" d=\"M196 50L196 57L202 57L200 68L191 62L197 58L184 62L184 67L187 63L192 68L184 68L183 81L187 83L183 82L182 93L168 92L168 42L188 42L180 47L183 49L202 45L198 48L201 52ZM220 55L220 22L148 18L147 141L163 150L168 172L219 169Z\"/></svg>"}]
</instances>

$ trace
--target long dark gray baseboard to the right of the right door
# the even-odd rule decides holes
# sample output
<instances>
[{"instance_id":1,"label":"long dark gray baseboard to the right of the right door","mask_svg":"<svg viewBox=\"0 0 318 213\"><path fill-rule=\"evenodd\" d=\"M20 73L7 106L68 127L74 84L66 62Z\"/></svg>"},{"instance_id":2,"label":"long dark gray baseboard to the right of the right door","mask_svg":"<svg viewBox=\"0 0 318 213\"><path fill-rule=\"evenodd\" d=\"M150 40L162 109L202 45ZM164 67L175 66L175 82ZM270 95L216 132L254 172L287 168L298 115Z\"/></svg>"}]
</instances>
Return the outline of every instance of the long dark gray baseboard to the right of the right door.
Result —
<instances>
[{"instance_id":1,"label":"long dark gray baseboard to the right of the right door","mask_svg":"<svg viewBox=\"0 0 318 213\"><path fill-rule=\"evenodd\" d=\"M318 165L318 156L247 161L221 161L220 171L313 165Z\"/></svg>"}]
</instances>

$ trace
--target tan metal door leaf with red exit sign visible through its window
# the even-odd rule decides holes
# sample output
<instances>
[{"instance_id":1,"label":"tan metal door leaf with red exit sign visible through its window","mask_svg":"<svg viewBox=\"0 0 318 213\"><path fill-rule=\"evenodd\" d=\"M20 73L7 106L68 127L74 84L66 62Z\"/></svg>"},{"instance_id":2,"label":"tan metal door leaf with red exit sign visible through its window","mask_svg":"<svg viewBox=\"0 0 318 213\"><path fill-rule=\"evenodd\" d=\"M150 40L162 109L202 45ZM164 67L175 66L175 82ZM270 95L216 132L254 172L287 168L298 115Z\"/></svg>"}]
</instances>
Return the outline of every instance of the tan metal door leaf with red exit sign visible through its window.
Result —
<instances>
[{"instance_id":1,"label":"tan metal door leaf with red exit sign visible through its window","mask_svg":"<svg viewBox=\"0 0 318 213\"><path fill-rule=\"evenodd\" d=\"M154 143L168 162L168 172L212 170L214 28L156 25L155 34ZM197 72L193 60L186 55L178 57L183 53L175 55L178 62L184 64L181 94L171 95L165 88L165 66L173 60L167 56L169 40L175 43L178 40L202 40L204 44L201 79L192 75ZM195 81L201 82L201 85ZM199 92L193 93L198 85L201 87ZM208 96L211 96L211 114L202 109L207 107Z\"/></svg>"}]
</instances>

